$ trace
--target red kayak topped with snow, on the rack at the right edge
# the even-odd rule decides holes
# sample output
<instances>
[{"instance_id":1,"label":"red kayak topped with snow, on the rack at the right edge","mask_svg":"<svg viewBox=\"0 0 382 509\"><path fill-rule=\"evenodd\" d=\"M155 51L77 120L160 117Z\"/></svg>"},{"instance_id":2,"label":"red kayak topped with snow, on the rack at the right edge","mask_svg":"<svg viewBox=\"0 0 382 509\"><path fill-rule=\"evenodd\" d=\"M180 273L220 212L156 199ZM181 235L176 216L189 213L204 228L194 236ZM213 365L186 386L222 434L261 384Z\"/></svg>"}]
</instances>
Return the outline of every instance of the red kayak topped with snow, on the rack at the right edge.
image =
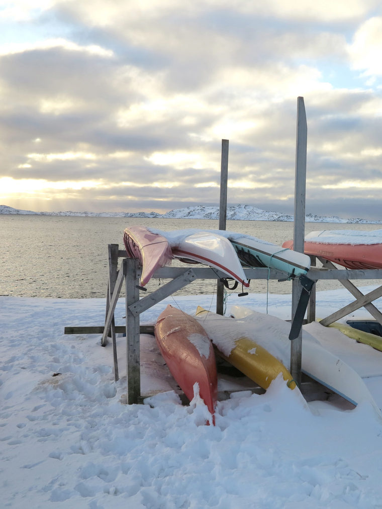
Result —
<instances>
[{"instance_id":1,"label":"red kayak topped with snow, on the rack at the right edge","mask_svg":"<svg viewBox=\"0 0 382 509\"><path fill-rule=\"evenodd\" d=\"M283 247L293 249L293 241ZM382 230L323 230L305 237L305 254L337 263L348 269L382 268Z\"/></svg>"}]
</instances>

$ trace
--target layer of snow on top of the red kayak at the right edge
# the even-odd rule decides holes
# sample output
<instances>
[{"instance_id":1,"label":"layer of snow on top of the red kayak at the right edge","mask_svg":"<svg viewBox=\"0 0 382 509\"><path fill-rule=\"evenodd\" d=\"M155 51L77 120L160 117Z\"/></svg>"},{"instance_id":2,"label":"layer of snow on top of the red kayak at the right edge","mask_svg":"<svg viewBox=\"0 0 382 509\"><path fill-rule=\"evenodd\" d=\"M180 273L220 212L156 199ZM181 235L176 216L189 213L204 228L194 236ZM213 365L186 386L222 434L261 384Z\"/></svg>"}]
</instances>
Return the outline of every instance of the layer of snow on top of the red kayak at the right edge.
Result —
<instances>
[{"instance_id":1,"label":"layer of snow on top of the red kayak at the right edge","mask_svg":"<svg viewBox=\"0 0 382 509\"><path fill-rule=\"evenodd\" d=\"M322 230L308 233L305 240L321 244L350 244L352 246L380 244L382 243L382 230L371 232L363 230Z\"/></svg>"}]
</instances>

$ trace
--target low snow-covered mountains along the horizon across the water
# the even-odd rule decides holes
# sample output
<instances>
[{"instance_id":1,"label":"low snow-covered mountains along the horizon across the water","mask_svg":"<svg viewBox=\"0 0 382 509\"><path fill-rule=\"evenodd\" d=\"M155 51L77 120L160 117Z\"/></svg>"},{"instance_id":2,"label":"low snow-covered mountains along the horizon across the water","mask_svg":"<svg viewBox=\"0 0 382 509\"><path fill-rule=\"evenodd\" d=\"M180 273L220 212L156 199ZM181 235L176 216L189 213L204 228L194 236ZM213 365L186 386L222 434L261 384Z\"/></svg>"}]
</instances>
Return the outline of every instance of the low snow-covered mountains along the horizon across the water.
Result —
<instances>
[{"instance_id":1,"label":"low snow-covered mountains along the horizon across the water","mask_svg":"<svg viewBox=\"0 0 382 509\"><path fill-rule=\"evenodd\" d=\"M148 217L148 218L176 218L176 219L219 219L218 206L198 205L195 207L185 207L183 209L170 210L166 214L157 212L33 212L31 210L19 210L7 205L0 205L0 214L33 214L49 216L95 216L95 217ZM269 212L258 209L253 205L230 205L227 207L228 220L252 220L252 221L293 221L293 216L281 212ZM326 222L326 223L369 223L381 224L382 221L371 221L360 218L342 219L337 216L317 216L307 214L306 222Z\"/></svg>"}]
</instances>

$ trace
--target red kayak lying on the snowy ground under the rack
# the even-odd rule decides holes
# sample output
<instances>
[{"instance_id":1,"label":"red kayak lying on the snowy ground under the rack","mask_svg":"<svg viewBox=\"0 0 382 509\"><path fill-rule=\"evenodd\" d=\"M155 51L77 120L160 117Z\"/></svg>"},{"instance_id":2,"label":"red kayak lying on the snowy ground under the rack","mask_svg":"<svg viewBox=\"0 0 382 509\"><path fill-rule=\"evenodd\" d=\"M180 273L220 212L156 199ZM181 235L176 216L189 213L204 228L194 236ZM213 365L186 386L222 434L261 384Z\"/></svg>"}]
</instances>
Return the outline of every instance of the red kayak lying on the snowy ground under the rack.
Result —
<instances>
[{"instance_id":1,"label":"red kayak lying on the snowy ground under the rack","mask_svg":"<svg viewBox=\"0 0 382 509\"><path fill-rule=\"evenodd\" d=\"M170 304L159 315L154 330L159 350L176 382L190 401L194 398L195 383L199 384L200 397L214 424L216 361L205 330L194 317Z\"/></svg>"}]
</instances>

